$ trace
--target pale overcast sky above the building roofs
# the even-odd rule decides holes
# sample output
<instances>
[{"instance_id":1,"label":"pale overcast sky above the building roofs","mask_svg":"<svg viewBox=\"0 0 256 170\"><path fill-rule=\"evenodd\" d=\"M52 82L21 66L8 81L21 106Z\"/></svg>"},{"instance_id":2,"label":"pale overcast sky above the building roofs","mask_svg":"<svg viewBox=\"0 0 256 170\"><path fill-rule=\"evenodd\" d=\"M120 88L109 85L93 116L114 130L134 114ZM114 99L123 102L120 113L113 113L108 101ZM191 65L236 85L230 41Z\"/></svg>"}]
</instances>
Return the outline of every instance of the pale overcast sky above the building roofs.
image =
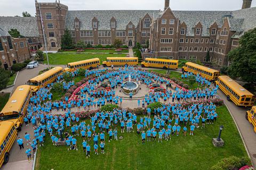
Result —
<instances>
[{"instance_id":1,"label":"pale overcast sky above the building roofs","mask_svg":"<svg viewBox=\"0 0 256 170\"><path fill-rule=\"evenodd\" d=\"M55 0L38 0L55 2ZM69 10L163 10L164 0L60 0ZM172 10L239 10L243 0L170 0ZM0 16L20 15L28 11L35 15L34 0L0 0ZM256 6L253 0L252 6Z\"/></svg>"}]
</instances>

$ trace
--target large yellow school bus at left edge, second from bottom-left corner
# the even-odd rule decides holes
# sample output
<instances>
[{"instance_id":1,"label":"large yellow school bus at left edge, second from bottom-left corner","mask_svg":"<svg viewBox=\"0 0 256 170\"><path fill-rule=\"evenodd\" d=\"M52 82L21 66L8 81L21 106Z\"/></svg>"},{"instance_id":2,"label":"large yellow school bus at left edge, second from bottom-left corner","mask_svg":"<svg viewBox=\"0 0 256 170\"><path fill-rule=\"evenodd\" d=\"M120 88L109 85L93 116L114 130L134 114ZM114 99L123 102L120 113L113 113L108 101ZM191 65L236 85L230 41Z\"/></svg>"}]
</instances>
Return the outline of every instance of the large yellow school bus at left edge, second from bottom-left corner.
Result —
<instances>
[{"instance_id":1,"label":"large yellow school bus at left edge, second from bottom-left corner","mask_svg":"<svg viewBox=\"0 0 256 170\"><path fill-rule=\"evenodd\" d=\"M0 121L12 121L15 128L21 130L31 95L32 91L30 86L18 86L0 112Z\"/></svg>"}]
</instances>

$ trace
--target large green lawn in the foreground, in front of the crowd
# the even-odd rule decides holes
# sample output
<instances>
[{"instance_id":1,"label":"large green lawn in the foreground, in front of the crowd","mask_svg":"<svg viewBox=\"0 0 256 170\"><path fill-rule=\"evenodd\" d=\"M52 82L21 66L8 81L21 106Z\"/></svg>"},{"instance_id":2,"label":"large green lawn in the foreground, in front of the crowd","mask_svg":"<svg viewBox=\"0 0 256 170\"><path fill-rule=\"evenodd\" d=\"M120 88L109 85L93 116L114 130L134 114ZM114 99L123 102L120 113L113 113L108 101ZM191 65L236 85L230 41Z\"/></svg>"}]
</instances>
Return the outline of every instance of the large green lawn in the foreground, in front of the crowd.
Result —
<instances>
[{"instance_id":1,"label":"large green lawn in the foreground, in front of the crowd","mask_svg":"<svg viewBox=\"0 0 256 170\"><path fill-rule=\"evenodd\" d=\"M205 129L196 129L195 135L188 135L187 138L174 135L171 141L151 141L142 145L141 135L135 132L124 133L123 140L110 143L106 141L105 154L98 156L93 152L91 141L89 159L83 153L81 136L76 137L78 151L67 151L65 146L54 147L47 135L45 145L37 152L36 169L210 169L222 158L247 156L226 106L218 107L217 112L219 117L216 123L206 124ZM224 126L221 138L225 141L225 146L215 148L212 138L218 136L221 124ZM118 129L118 137L120 135ZM105 139L107 138L108 135Z\"/></svg>"}]
</instances>

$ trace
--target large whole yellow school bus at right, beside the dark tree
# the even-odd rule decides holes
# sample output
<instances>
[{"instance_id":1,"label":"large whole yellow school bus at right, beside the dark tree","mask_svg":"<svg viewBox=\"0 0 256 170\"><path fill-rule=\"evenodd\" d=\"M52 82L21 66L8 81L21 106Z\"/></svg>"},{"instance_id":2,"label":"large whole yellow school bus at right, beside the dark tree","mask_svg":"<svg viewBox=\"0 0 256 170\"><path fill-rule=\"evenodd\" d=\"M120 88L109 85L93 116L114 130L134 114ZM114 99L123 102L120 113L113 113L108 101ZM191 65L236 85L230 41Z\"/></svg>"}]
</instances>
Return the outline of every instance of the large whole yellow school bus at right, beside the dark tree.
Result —
<instances>
[{"instance_id":1,"label":"large whole yellow school bus at right, beside the dark tree","mask_svg":"<svg viewBox=\"0 0 256 170\"><path fill-rule=\"evenodd\" d=\"M254 105L255 96L227 75L219 76L215 83L227 95L228 101L232 100L237 106Z\"/></svg>"}]
</instances>

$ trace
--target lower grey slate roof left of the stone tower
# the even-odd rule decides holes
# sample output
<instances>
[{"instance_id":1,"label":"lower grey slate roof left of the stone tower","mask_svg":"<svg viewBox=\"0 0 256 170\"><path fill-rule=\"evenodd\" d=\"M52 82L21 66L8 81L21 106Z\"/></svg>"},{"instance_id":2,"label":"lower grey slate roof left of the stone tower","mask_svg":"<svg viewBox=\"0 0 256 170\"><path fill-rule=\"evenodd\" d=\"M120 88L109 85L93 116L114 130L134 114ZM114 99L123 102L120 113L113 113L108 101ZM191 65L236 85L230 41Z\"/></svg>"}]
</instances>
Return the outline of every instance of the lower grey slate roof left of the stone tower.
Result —
<instances>
[{"instance_id":1,"label":"lower grey slate roof left of the stone tower","mask_svg":"<svg viewBox=\"0 0 256 170\"><path fill-rule=\"evenodd\" d=\"M0 16L0 25L5 32L17 29L24 37L39 37L36 17Z\"/></svg>"}]
</instances>

